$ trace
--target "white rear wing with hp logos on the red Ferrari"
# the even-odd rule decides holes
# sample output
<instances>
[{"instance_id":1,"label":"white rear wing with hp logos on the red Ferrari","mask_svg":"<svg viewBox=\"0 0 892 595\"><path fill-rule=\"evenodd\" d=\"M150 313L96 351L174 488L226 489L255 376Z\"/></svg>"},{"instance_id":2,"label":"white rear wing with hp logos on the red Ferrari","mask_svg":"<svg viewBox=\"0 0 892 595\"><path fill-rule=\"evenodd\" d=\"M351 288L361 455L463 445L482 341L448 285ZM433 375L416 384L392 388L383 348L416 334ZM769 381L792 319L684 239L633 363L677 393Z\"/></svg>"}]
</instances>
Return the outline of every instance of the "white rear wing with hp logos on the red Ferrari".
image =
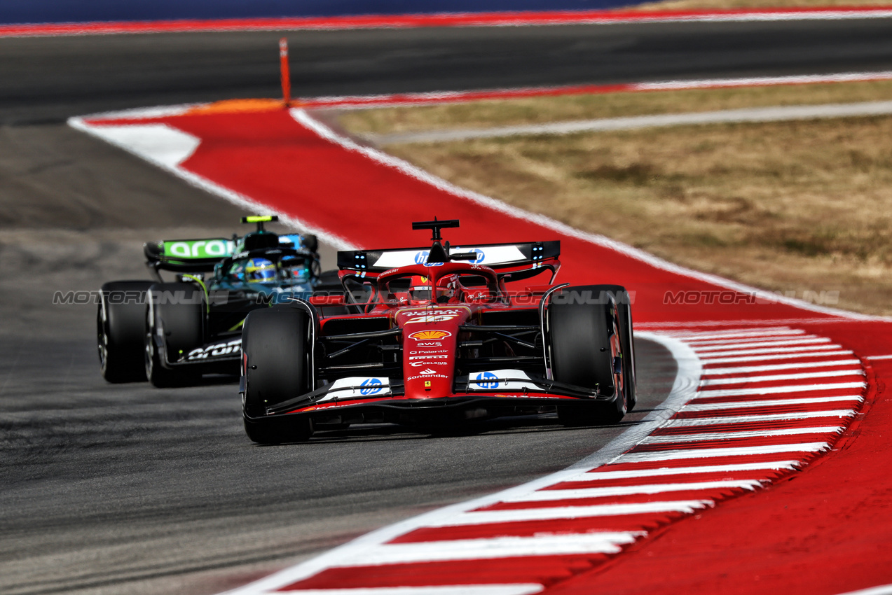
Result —
<instances>
[{"instance_id":1,"label":"white rear wing with hp logos on the red Ferrari","mask_svg":"<svg viewBox=\"0 0 892 595\"><path fill-rule=\"evenodd\" d=\"M526 242L520 244L462 244L450 246L449 254L475 253L473 265L517 270L522 267L543 265L560 256L560 240ZM347 250L337 253L337 265L342 271L357 273L384 273L392 268L421 265L427 262L430 248L401 248L379 250Z\"/></svg>"}]
</instances>

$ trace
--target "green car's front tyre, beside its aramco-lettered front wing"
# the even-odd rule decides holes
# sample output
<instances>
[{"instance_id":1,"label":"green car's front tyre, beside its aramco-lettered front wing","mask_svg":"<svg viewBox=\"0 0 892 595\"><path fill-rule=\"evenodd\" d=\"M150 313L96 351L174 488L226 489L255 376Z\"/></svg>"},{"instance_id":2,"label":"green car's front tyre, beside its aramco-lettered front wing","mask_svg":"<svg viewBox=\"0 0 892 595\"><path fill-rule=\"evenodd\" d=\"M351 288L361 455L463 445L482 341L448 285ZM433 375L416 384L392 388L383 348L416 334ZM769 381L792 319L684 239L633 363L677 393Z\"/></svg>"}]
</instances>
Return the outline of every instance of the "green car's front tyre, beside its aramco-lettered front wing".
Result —
<instances>
[{"instance_id":1,"label":"green car's front tyre, beside its aramco-lettered front wing","mask_svg":"<svg viewBox=\"0 0 892 595\"><path fill-rule=\"evenodd\" d=\"M145 309L145 376L154 387L194 384L201 372L191 366L167 367L204 343L207 307L202 289L192 283L155 283Z\"/></svg>"}]
</instances>

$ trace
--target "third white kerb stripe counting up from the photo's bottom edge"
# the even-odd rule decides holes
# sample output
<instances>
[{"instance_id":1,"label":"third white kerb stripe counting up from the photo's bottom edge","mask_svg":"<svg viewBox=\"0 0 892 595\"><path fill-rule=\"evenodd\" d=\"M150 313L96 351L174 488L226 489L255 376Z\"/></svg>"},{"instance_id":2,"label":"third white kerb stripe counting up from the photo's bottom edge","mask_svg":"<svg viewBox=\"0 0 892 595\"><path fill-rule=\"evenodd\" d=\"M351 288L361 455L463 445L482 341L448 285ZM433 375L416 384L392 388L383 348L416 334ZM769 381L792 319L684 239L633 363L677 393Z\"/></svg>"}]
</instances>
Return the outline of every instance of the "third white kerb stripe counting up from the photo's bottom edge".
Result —
<instances>
[{"instance_id":1,"label":"third white kerb stripe counting up from the photo's bottom edge","mask_svg":"<svg viewBox=\"0 0 892 595\"><path fill-rule=\"evenodd\" d=\"M429 527L492 525L518 523L531 520L557 520L559 518L616 517L638 515L645 512L684 512L712 506L711 500L679 500L665 502L635 502L632 504L595 504L592 506L560 506L553 509L511 509L462 512L431 523Z\"/></svg>"}]
</instances>

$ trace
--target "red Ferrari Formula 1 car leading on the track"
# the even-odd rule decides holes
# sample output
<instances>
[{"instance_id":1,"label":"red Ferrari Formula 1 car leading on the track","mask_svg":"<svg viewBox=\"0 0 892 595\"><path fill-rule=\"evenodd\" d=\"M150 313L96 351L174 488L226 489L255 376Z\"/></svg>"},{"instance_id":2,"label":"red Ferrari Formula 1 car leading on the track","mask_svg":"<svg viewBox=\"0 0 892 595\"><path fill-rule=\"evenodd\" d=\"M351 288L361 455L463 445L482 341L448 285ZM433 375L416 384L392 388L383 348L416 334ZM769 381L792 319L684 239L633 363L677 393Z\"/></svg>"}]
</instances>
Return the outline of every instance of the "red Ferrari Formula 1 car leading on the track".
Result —
<instances>
[{"instance_id":1,"label":"red Ferrari Formula 1 car leading on the track","mask_svg":"<svg viewBox=\"0 0 892 595\"><path fill-rule=\"evenodd\" d=\"M240 392L252 441L391 422L432 428L558 412L609 424L635 404L628 292L555 285L560 242L338 253L345 292L254 310ZM548 285L529 285L545 275ZM337 314L330 314L335 311Z\"/></svg>"}]
</instances>

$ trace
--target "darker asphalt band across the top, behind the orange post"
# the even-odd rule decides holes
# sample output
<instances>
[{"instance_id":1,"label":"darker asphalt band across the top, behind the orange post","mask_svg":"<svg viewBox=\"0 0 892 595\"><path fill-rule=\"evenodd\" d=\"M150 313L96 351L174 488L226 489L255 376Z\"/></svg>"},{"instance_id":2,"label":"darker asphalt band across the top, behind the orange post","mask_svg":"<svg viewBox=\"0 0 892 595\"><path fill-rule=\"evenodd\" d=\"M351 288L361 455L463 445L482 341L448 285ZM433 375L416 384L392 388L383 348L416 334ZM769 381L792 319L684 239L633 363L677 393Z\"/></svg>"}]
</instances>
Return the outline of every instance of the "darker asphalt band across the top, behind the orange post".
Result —
<instances>
[{"instance_id":1,"label":"darker asphalt band across the top, behind the orange post","mask_svg":"<svg viewBox=\"0 0 892 595\"><path fill-rule=\"evenodd\" d=\"M292 31L293 94L892 69L892 20ZM282 33L0 38L0 123L275 97Z\"/></svg>"}]
</instances>

